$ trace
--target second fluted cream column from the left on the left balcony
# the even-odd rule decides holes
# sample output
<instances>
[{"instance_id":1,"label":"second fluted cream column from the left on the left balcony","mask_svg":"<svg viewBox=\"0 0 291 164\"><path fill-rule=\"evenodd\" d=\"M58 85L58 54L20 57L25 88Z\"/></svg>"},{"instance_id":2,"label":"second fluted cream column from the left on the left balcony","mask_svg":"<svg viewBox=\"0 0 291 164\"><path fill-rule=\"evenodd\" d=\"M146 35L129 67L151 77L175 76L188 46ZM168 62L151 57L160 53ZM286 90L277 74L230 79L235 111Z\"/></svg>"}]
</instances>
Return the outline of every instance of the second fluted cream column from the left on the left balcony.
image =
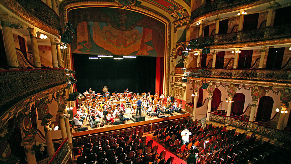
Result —
<instances>
[{"instance_id":1,"label":"second fluted cream column from the left on the left balcony","mask_svg":"<svg viewBox=\"0 0 291 164\"><path fill-rule=\"evenodd\" d=\"M37 38L36 30L28 28L28 31L29 31L29 36L30 36L30 40L31 40L33 66L35 68L40 68L40 67L42 67L42 65L40 62L38 44L37 44L37 40L36 40L36 38Z\"/></svg>"}]
</instances>

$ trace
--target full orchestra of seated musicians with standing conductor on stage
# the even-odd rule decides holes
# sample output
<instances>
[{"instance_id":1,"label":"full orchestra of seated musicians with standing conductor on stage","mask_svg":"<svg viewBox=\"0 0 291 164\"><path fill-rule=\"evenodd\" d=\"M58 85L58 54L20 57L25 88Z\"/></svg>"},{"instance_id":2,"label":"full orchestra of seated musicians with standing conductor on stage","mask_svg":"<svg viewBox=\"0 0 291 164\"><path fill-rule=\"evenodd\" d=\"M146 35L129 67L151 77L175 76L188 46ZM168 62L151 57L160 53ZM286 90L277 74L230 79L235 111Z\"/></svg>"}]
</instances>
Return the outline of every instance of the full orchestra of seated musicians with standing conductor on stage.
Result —
<instances>
[{"instance_id":1,"label":"full orchestra of seated musicians with standing conductor on stage","mask_svg":"<svg viewBox=\"0 0 291 164\"><path fill-rule=\"evenodd\" d=\"M177 105L177 101L173 101L173 97L168 96L165 98L165 93L159 96L156 92L154 95L142 93L132 93L126 89L124 93L113 92L112 94L107 91L105 94L95 94L89 88L83 94L85 100L79 100L77 113L74 115L74 122L78 126L82 126L84 121L92 121L98 124L101 121L104 123L111 123L117 119L129 121L129 114L141 114L146 112L147 117L157 116L159 114L172 114L181 111L182 103ZM87 123L88 124L88 123Z\"/></svg>"}]
</instances>

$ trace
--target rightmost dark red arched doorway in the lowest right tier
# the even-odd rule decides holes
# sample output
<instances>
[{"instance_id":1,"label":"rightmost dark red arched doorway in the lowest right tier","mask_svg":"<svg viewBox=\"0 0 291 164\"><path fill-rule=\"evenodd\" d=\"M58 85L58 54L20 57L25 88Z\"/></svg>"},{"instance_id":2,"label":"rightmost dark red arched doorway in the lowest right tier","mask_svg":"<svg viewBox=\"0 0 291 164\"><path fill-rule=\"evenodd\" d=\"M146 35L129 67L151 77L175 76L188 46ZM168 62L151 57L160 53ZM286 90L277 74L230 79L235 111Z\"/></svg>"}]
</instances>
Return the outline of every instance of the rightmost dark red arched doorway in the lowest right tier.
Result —
<instances>
[{"instance_id":1,"label":"rightmost dark red arched doorway in the lowest right tier","mask_svg":"<svg viewBox=\"0 0 291 164\"><path fill-rule=\"evenodd\" d=\"M263 96L259 101L256 121L271 118L274 100L270 96Z\"/></svg>"}]
</instances>

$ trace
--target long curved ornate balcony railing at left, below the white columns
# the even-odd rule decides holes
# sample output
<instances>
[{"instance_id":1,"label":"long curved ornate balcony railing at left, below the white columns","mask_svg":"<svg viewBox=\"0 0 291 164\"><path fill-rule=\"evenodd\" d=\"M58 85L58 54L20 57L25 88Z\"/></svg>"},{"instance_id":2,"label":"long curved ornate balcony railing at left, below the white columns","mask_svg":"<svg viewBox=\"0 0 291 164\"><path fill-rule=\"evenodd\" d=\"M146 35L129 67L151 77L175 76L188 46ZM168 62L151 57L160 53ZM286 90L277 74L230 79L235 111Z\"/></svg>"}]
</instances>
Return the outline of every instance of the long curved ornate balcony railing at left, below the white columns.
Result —
<instances>
[{"instance_id":1,"label":"long curved ornate balcony railing at left, below the white columns","mask_svg":"<svg viewBox=\"0 0 291 164\"><path fill-rule=\"evenodd\" d=\"M64 84L65 69L0 70L0 109L45 89Z\"/></svg>"}]
</instances>

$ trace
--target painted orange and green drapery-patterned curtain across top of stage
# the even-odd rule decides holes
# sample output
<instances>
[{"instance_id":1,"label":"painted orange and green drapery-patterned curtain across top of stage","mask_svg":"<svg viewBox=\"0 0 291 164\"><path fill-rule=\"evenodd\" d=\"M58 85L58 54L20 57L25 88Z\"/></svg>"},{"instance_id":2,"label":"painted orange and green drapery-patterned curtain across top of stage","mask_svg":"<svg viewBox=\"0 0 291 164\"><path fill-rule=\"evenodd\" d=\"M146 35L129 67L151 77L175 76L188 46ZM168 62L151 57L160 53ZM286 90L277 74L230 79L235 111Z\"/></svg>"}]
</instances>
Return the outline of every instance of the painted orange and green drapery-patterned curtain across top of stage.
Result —
<instances>
[{"instance_id":1,"label":"painted orange and green drapery-patterned curtain across top of stage","mask_svg":"<svg viewBox=\"0 0 291 164\"><path fill-rule=\"evenodd\" d=\"M72 53L164 56L165 25L139 12L98 7L73 9L68 20L76 30Z\"/></svg>"}]
</instances>

